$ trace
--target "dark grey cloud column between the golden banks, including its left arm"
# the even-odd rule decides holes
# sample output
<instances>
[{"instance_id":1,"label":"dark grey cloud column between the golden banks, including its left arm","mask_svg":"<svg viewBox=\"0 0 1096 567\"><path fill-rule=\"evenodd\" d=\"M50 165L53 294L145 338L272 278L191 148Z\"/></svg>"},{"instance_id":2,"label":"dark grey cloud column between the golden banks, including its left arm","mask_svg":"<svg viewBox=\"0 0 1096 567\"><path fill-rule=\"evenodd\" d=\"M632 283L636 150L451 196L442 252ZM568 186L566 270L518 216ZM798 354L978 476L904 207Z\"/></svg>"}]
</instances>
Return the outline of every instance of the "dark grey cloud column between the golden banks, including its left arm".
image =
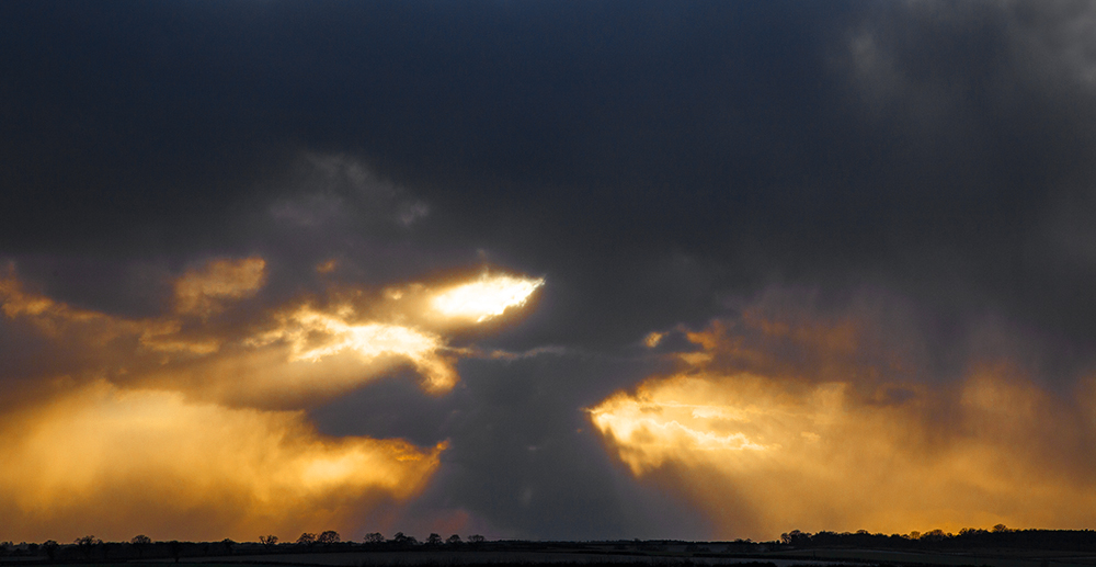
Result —
<instances>
[{"instance_id":1,"label":"dark grey cloud column between the golden banks, including its left arm","mask_svg":"<svg viewBox=\"0 0 1096 567\"><path fill-rule=\"evenodd\" d=\"M321 429L341 434L449 439L444 470L404 513L409 529L436 531L430 521L455 511L478 520L459 530L492 537L684 537L710 529L665 495L628 483L581 410L648 365L546 354L459 370L466 379L446 398L374 383L316 412Z\"/></svg>"}]
</instances>

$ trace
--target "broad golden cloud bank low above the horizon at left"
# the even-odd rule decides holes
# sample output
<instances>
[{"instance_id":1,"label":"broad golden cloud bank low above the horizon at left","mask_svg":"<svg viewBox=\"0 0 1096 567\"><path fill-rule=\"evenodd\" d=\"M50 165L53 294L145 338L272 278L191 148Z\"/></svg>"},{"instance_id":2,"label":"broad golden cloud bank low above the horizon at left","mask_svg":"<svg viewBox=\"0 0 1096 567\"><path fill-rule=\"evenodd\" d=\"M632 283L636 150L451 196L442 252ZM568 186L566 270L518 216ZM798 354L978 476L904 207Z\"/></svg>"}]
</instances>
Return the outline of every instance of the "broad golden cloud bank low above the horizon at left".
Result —
<instances>
[{"instance_id":1,"label":"broad golden cloud bank low above the horizon at left","mask_svg":"<svg viewBox=\"0 0 1096 567\"><path fill-rule=\"evenodd\" d=\"M349 530L363 506L418 494L444 449L106 383L4 416L0 434L0 531L16 540Z\"/></svg>"}]
</instances>

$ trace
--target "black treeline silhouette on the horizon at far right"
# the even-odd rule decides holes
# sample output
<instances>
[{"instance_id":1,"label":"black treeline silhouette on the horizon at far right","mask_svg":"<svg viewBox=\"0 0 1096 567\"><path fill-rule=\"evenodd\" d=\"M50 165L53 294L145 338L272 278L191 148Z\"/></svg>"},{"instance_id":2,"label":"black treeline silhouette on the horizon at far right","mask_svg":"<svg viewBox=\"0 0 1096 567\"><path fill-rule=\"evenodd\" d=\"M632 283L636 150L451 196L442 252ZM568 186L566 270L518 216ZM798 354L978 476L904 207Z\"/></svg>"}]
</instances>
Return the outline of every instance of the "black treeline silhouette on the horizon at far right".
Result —
<instances>
[{"instance_id":1,"label":"black treeline silhouette on the horizon at far right","mask_svg":"<svg viewBox=\"0 0 1096 567\"><path fill-rule=\"evenodd\" d=\"M967 528L959 533L933 530L910 534L849 532L818 532L794 530L780 535L780 542L797 548L811 547L870 547L900 549L1059 549L1096 552L1096 531L1093 530L1009 530L995 525L992 530Z\"/></svg>"}]
</instances>

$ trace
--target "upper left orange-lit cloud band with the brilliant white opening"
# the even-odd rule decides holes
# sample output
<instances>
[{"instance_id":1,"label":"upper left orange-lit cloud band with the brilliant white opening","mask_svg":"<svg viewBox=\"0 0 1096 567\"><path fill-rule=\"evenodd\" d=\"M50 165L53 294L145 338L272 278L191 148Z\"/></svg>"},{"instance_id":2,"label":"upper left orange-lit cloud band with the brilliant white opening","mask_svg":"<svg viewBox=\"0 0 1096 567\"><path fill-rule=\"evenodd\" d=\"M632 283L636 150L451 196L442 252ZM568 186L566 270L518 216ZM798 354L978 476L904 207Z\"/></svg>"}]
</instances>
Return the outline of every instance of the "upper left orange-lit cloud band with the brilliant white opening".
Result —
<instances>
[{"instance_id":1,"label":"upper left orange-lit cloud band with the brilliant white opening","mask_svg":"<svg viewBox=\"0 0 1096 567\"><path fill-rule=\"evenodd\" d=\"M78 309L23 291L13 274L0 280L0 298L8 317L30 321L70 349L114 345L114 354L124 359L118 365L127 368L121 378L126 383L181 389L207 400L282 407L345 392L400 365L414 368L425 390L447 392L458 379L456 358L473 351L448 347L439 332L454 325L437 321L431 300L472 285L482 305L501 313L527 298L515 295L514 287L524 285L532 293L543 285L543 280L495 275L441 292L424 284L390 287L375 299L353 291L323 308L295 302L266 309L243 327L214 325L231 299L255 294L264 267L259 258L218 259L190 271L175 282L175 309L159 318ZM500 295L492 300L495 288ZM203 322L187 324L189 315L201 315ZM475 322L459 315L454 319L458 326Z\"/></svg>"}]
</instances>

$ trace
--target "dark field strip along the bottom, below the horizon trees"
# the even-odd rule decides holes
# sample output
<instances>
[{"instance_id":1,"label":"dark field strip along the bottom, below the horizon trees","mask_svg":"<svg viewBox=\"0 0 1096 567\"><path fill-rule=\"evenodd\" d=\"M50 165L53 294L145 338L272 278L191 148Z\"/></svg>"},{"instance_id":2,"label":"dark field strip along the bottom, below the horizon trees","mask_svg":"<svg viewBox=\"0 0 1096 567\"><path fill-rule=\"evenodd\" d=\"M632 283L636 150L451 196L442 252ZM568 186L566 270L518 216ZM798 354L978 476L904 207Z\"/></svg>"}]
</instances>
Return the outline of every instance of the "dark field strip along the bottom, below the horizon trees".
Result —
<instances>
[{"instance_id":1,"label":"dark field strip along the bottom, below the horizon trees","mask_svg":"<svg viewBox=\"0 0 1096 567\"><path fill-rule=\"evenodd\" d=\"M1054 551L1021 548L967 549L884 549L868 547L811 547L792 545L737 543L534 543L491 542L479 548L409 548L378 549L364 546L341 546L324 549L264 548L253 544L180 544L173 556L157 556L144 552L142 557L126 557L119 546L104 549L105 556L49 558L42 555L9 555L0 565L95 565L104 567L165 564L201 567L704 567L735 565L737 567L792 567L796 565L886 565L886 566L989 566L989 567L1096 567L1096 553L1088 551ZM218 551L229 553L216 553ZM204 552L198 554L197 552Z\"/></svg>"}]
</instances>

